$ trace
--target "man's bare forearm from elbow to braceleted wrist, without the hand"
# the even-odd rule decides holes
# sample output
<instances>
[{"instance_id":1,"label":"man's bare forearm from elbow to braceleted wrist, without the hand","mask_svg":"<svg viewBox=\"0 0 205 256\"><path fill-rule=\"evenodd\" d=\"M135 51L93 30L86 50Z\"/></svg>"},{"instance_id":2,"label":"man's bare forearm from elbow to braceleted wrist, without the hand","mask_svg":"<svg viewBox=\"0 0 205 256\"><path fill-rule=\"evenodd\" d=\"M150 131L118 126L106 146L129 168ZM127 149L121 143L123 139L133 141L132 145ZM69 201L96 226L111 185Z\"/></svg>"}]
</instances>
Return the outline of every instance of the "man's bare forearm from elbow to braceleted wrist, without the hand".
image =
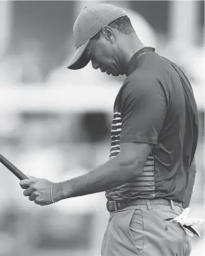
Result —
<instances>
[{"instance_id":1,"label":"man's bare forearm from elbow to braceleted wrist, without the hand","mask_svg":"<svg viewBox=\"0 0 205 256\"><path fill-rule=\"evenodd\" d=\"M113 189L141 175L142 170L135 168L134 172L134 166L129 166L117 156L85 175L60 182L59 200Z\"/></svg>"}]
</instances>

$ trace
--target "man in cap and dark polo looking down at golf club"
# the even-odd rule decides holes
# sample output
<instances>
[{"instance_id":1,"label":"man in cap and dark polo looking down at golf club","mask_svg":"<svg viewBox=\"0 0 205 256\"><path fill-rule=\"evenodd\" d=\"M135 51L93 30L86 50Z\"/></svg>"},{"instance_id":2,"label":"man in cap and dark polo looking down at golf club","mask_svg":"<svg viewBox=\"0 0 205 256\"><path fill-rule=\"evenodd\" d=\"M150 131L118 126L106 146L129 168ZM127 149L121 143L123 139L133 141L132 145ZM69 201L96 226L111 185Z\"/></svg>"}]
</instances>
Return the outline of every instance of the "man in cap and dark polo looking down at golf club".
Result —
<instances>
[{"instance_id":1,"label":"man in cap and dark polo looking down at golf club","mask_svg":"<svg viewBox=\"0 0 205 256\"><path fill-rule=\"evenodd\" d=\"M94 69L127 76L114 102L110 159L65 182L23 180L24 195L48 205L106 191L110 218L102 255L190 255L189 235L169 221L182 213L185 197L188 206L195 176L195 168L189 173L198 119L188 79L154 48L144 47L117 6L82 10L74 41L77 50L69 69L91 61Z\"/></svg>"}]
</instances>

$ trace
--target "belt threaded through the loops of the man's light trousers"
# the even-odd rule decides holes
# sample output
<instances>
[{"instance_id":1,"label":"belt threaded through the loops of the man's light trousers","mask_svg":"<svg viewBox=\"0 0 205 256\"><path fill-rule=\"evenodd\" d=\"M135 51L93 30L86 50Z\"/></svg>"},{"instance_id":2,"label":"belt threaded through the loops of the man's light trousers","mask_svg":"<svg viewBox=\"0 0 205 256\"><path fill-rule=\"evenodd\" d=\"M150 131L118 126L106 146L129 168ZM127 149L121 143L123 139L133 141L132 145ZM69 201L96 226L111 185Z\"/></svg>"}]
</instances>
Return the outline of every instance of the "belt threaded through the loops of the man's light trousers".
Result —
<instances>
[{"instance_id":1,"label":"belt threaded through the loops of the man's light trousers","mask_svg":"<svg viewBox=\"0 0 205 256\"><path fill-rule=\"evenodd\" d=\"M128 202L107 201L106 203L107 211L109 212L117 212L118 210L134 205L148 205L148 209L151 209L151 205L170 205L172 209L174 209L174 206L179 206L183 209L182 202L176 202L166 199L134 199Z\"/></svg>"}]
</instances>

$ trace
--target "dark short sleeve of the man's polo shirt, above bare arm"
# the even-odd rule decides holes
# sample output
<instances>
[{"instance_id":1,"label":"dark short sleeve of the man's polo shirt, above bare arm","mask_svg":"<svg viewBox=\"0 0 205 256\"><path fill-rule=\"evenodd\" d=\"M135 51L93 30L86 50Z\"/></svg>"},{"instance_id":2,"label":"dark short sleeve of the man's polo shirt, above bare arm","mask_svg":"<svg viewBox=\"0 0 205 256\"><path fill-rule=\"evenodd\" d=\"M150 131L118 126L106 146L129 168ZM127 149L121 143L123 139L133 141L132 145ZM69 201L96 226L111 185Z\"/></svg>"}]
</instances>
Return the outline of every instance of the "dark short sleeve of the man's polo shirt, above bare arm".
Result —
<instances>
[{"instance_id":1,"label":"dark short sleeve of the man's polo shirt, above bare arm","mask_svg":"<svg viewBox=\"0 0 205 256\"><path fill-rule=\"evenodd\" d=\"M166 97L157 78L133 77L120 91L120 143L157 144L166 116Z\"/></svg>"}]
</instances>

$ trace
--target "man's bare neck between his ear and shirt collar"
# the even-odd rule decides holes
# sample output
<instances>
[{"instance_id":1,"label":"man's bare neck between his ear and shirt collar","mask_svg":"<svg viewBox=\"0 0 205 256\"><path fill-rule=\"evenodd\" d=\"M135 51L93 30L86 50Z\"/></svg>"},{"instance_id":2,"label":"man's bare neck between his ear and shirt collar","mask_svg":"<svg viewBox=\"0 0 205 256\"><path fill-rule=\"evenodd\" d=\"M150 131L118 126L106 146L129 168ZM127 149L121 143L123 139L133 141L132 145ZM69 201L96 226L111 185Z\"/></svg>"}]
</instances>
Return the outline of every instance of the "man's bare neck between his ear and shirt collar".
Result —
<instances>
[{"instance_id":1,"label":"man's bare neck between his ear and shirt collar","mask_svg":"<svg viewBox=\"0 0 205 256\"><path fill-rule=\"evenodd\" d=\"M124 40L123 47L121 48L121 56L123 56L123 70L125 72L125 67L127 66L128 62L132 58L136 52L140 49L144 48L145 45L139 40L136 34L132 36L128 36Z\"/></svg>"}]
</instances>

